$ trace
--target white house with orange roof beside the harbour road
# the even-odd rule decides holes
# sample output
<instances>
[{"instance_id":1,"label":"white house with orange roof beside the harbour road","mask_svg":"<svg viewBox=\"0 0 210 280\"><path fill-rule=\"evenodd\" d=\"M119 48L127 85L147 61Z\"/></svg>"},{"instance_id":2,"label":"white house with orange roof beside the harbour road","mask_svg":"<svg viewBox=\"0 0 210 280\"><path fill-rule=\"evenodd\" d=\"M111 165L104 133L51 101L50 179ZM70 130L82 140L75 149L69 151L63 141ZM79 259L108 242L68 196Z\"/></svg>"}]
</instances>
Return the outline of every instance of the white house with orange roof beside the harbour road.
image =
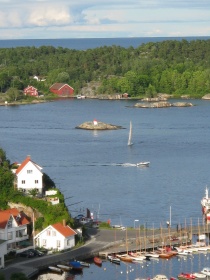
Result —
<instances>
[{"instance_id":1,"label":"white house with orange roof beside the harbour road","mask_svg":"<svg viewBox=\"0 0 210 280\"><path fill-rule=\"evenodd\" d=\"M61 251L75 246L77 233L65 222L49 225L34 237L36 246Z\"/></svg>"}]
</instances>

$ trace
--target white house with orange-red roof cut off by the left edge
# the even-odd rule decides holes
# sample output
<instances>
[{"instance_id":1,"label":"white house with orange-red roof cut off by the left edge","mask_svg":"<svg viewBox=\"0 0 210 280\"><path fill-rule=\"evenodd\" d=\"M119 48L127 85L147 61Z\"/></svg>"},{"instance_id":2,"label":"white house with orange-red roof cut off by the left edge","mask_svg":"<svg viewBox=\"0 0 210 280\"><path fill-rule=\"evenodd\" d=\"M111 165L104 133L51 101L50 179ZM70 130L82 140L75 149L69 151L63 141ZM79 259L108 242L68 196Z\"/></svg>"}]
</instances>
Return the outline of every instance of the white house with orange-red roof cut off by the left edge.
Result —
<instances>
[{"instance_id":1,"label":"white house with orange-red roof cut off by the left edge","mask_svg":"<svg viewBox=\"0 0 210 280\"><path fill-rule=\"evenodd\" d=\"M0 239L6 240L6 253L20 248L21 242L29 239L28 224L30 221L16 208L0 210Z\"/></svg>"}]
</instances>

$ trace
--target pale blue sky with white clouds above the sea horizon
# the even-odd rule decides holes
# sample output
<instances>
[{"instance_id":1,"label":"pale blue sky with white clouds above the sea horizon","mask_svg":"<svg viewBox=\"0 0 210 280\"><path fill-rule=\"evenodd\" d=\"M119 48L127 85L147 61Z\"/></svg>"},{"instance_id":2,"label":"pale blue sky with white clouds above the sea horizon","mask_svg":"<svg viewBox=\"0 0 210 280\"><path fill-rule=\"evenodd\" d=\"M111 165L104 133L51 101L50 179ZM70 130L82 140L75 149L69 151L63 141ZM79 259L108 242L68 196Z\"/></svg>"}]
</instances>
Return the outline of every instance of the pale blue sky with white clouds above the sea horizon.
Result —
<instances>
[{"instance_id":1,"label":"pale blue sky with white clouds above the sea horizon","mask_svg":"<svg viewBox=\"0 0 210 280\"><path fill-rule=\"evenodd\" d=\"M0 0L0 39L210 36L210 0Z\"/></svg>"}]
</instances>

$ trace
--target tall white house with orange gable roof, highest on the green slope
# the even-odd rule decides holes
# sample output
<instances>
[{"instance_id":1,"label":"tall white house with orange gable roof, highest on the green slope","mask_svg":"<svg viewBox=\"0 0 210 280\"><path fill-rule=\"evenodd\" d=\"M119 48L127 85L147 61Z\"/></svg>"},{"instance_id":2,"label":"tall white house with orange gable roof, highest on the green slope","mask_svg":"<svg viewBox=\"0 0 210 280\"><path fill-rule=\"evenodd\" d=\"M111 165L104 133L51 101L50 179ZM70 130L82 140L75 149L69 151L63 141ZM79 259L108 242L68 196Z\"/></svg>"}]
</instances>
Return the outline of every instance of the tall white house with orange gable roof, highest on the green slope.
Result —
<instances>
[{"instance_id":1,"label":"tall white house with orange gable roof, highest on the green slope","mask_svg":"<svg viewBox=\"0 0 210 280\"><path fill-rule=\"evenodd\" d=\"M19 165L16 169L16 184L17 189L23 192L36 189L39 193L43 192L43 173L42 167L31 160L30 156Z\"/></svg>"}]
</instances>

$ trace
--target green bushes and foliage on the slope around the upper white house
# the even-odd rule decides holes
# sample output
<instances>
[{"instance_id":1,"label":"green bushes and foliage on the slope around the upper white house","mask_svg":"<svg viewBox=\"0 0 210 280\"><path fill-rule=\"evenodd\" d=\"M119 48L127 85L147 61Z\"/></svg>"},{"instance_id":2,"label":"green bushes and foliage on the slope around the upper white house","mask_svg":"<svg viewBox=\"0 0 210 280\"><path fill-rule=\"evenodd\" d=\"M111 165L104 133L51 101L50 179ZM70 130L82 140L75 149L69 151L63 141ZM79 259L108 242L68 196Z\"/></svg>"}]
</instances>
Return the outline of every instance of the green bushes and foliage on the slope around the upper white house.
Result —
<instances>
[{"instance_id":1,"label":"green bushes and foliage on the slope around the upper white house","mask_svg":"<svg viewBox=\"0 0 210 280\"><path fill-rule=\"evenodd\" d=\"M45 199L34 198L37 194L36 190L31 190L30 194L33 197L25 196L22 192L14 189L14 175L10 168L9 160L6 158L6 153L4 150L0 149L0 205L1 209L6 209L8 201L15 203L22 203L23 205L32 207L35 211L38 211L43 215L43 217L37 219L35 223L36 229L43 229L49 224L54 224L57 222L66 221L67 224L73 226L73 219L70 217L68 209L64 203L64 196L58 190L55 189L55 183L50 179L47 174L44 174L45 185L49 187L54 187L57 190L56 197L59 198L60 203L52 205L51 202Z\"/></svg>"}]
</instances>

